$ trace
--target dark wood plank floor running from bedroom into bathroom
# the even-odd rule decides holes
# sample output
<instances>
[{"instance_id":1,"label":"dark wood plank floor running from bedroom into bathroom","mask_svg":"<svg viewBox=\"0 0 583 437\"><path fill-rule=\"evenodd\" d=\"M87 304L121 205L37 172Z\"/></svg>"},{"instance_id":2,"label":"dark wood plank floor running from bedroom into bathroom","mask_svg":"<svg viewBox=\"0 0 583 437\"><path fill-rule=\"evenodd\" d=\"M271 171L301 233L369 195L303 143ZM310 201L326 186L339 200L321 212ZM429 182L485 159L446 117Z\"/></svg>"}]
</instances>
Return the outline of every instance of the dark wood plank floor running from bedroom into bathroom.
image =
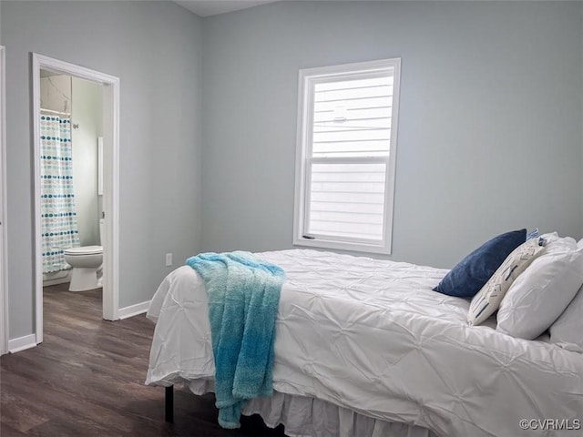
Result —
<instances>
[{"instance_id":1,"label":"dark wood plank floor running from bedroom into bathroom","mask_svg":"<svg viewBox=\"0 0 583 437\"><path fill-rule=\"evenodd\" d=\"M239 430L217 424L214 396L175 389L175 423L164 389L144 385L154 324L144 315L101 319L101 290L46 287L44 342L0 358L0 435L282 436L259 416Z\"/></svg>"}]
</instances>

